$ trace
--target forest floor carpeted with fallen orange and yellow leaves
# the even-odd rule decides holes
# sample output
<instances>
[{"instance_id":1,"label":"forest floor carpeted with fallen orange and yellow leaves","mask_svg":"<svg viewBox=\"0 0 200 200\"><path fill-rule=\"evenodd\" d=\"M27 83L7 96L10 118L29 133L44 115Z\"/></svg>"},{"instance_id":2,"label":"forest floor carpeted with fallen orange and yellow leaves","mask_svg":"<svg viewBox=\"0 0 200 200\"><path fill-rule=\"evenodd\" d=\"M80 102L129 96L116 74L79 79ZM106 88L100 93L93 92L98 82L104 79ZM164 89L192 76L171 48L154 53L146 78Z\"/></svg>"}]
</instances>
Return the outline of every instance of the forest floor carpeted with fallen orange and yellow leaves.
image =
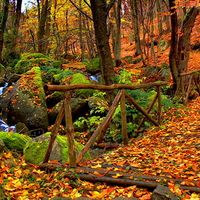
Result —
<instances>
[{"instance_id":1,"label":"forest floor carpeted with fallen orange and yellow leaves","mask_svg":"<svg viewBox=\"0 0 200 200\"><path fill-rule=\"evenodd\" d=\"M132 56L134 49L126 38L123 45L122 57ZM158 65L168 63L168 50L157 53ZM84 68L79 63L71 67ZM126 63L124 68L138 73L141 72L141 63ZM189 69L200 69L200 52L191 52ZM142 176L156 177L154 183L168 186L179 199L200 199L198 192L187 190L187 187L200 189L200 97L189 101L186 106L163 113L163 119L164 124L151 127L142 137L131 139L128 146L121 145L95 159L82 162L80 166L93 169L88 174L97 177L106 176L111 171L115 172L111 177L115 179L120 179L121 173L129 174L129 180L142 180ZM25 163L22 156L12 152L1 155L0 162L0 199L41 199L44 196L151 199L152 190L136 185L125 187L98 181L92 183L80 180L78 176L77 181L70 180L66 177L67 168L46 173L38 166ZM101 170L105 173L101 174Z\"/></svg>"}]
</instances>

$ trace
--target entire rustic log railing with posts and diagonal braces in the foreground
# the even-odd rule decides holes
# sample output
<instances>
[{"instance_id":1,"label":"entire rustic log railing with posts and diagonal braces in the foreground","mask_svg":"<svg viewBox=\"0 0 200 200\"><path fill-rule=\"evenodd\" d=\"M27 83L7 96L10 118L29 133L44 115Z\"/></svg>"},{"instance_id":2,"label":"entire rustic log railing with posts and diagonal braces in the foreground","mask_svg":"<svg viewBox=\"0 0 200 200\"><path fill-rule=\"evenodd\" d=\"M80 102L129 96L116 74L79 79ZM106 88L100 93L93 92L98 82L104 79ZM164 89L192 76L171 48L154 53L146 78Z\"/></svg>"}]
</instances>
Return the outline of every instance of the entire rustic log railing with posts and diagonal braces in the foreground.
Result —
<instances>
[{"instance_id":1,"label":"entire rustic log railing with posts and diagonal braces in the foreground","mask_svg":"<svg viewBox=\"0 0 200 200\"><path fill-rule=\"evenodd\" d=\"M46 163L49 160L54 141L58 134L59 126L60 126L61 121L64 116L65 116L65 122L66 122L66 135L68 138L68 145L69 145L68 152L69 152L70 167L76 167L76 164L79 163L83 159L85 153L88 151L88 149L91 147L91 145L94 143L94 141L96 140L97 137L98 137L97 143L99 143L102 140L102 138L104 137L104 134L109 126L109 123L112 119L112 116L119 104L121 106L122 140L123 140L124 145L128 144L125 98L130 103L132 103L135 106L135 108L139 112L141 112L142 115L144 116L141 123L138 126L138 129L142 126L145 119L152 122L154 125L159 126L161 124L161 86L164 86L164 85L167 85L167 82L155 82L155 83L147 83L147 84L140 84L140 85L113 84L110 86L98 85L98 84L46 85L45 89L48 91L65 92L65 99L63 101L62 107L60 108L58 116L56 118L56 122L53 126L49 146L48 146L45 158L43 160L43 163ZM157 94L155 95L155 97L147 111L145 111L143 108L141 108L136 103L136 101L132 97L130 97L128 94L126 94L124 91L124 89L136 90L136 89L149 88L149 87L153 87L153 86L155 86L157 88ZM73 128L72 114L71 114L71 95L70 95L70 90L76 90L76 89L95 89L95 90L118 89L119 90L106 117L101 122L101 124L99 124L99 126L94 131L93 135L90 137L90 139L86 143L85 147L82 149L82 151L78 154L77 157L76 157L75 144L74 144L74 128ZM157 120L153 119L149 115L156 100L158 100Z\"/></svg>"}]
</instances>

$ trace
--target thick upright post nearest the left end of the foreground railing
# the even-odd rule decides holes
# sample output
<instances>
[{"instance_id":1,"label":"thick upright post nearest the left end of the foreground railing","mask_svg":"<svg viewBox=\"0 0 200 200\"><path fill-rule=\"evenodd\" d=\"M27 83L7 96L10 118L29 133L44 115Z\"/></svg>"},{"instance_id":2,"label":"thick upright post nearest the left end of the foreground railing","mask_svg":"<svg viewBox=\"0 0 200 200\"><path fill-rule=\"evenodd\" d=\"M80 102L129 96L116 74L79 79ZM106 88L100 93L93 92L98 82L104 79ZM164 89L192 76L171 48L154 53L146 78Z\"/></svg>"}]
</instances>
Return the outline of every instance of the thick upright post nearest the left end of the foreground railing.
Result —
<instances>
[{"instance_id":1,"label":"thick upright post nearest the left end of the foreground railing","mask_svg":"<svg viewBox=\"0 0 200 200\"><path fill-rule=\"evenodd\" d=\"M69 154L70 167L76 167L74 127L72 122L71 97L69 92L65 92L64 108L65 108L66 135L68 139L68 154Z\"/></svg>"}]
</instances>

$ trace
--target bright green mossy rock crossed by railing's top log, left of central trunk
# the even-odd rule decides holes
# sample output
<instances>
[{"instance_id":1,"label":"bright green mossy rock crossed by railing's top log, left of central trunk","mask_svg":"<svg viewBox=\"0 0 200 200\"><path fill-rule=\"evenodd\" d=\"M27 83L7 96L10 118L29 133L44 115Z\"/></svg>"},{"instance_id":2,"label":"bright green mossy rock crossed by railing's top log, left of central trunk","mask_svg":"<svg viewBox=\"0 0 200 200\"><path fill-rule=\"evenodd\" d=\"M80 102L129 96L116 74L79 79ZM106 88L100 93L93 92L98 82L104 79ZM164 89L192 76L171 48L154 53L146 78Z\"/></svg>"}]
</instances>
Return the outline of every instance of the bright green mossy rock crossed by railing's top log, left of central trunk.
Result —
<instances>
[{"instance_id":1,"label":"bright green mossy rock crossed by railing's top log, left of central trunk","mask_svg":"<svg viewBox=\"0 0 200 200\"><path fill-rule=\"evenodd\" d=\"M74 74L70 81L70 84L89 84L91 83L86 76L81 73ZM80 89L75 92L75 97L88 98L94 94L93 89Z\"/></svg>"}]
</instances>

